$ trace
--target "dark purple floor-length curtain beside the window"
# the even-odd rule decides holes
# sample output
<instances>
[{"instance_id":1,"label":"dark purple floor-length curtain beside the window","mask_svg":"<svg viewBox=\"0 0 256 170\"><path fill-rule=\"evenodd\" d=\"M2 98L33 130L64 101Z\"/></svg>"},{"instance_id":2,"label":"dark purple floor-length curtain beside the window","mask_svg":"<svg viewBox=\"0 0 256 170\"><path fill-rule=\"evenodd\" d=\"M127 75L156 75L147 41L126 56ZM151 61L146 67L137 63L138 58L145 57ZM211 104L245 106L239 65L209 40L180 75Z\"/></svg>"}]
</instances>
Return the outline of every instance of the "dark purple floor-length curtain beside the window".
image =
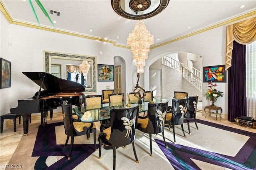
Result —
<instances>
[{"instance_id":1,"label":"dark purple floor-length curtain beside the window","mask_svg":"<svg viewBox=\"0 0 256 170\"><path fill-rule=\"evenodd\" d=\"M233 42L232 66L228 69L228 121L246 116L246 46Z\"/></svg>"}]
</instances>

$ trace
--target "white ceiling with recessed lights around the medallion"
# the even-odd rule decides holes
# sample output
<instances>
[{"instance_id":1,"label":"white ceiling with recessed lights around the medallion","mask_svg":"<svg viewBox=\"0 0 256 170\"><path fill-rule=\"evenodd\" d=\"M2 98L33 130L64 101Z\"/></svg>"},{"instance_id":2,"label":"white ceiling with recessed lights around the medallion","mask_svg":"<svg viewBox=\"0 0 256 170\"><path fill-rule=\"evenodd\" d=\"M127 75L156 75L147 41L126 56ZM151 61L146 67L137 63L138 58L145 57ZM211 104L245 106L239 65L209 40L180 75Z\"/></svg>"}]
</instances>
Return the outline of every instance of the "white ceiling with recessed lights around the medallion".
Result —
<instances>
[{"instance_id":1,"label":"white ceiling with recessed lights around the medallion","mask_svg":"<svg viewBox=\"0 0 256 170\"><path fill-rule=\"evenodd\" d=\"M0 1L13 21L38 25L28 1ZM36 2L31 1L40 25L54 28ZM126 45L126 38L138 22L116 14L112 9L111 0L40 0L40 2L47 12L49 10L60 12L60 16L49 14L50 18L56 21L54 26L57 30L107 39L119 45ZM242 5L245 7L240 8ZM256 0L170 0L164 11L142 22L154 35L154 45L157 45L255 10Z\"/></svg>"}]
</instances>

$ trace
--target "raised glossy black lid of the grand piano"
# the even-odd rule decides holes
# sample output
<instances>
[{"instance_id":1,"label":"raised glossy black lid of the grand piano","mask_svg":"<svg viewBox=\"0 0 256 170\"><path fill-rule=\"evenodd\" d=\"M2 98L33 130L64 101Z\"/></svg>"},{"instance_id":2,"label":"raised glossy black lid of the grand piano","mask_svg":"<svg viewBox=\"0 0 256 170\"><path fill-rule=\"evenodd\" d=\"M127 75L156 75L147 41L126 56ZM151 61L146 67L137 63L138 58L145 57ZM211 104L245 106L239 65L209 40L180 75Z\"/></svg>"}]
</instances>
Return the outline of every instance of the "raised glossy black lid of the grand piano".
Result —
<instances>
[{"instance_id":1,"label":"raised glossy black lid of the grand piano","mask_svg":"<svg viewBox=\"0 0 256 170\"><path fill-rule=\"evenodd\" d=\"M50 73L45 72L22 72L42 89L47 90L48 93L74 93L84 92L85 88L80 83L60 79ZM45 78L44 78L45 76ZM44 79L44 82L43 82ZM43 84L42 84L43 83Z\"/></svg>"}]
</instances>

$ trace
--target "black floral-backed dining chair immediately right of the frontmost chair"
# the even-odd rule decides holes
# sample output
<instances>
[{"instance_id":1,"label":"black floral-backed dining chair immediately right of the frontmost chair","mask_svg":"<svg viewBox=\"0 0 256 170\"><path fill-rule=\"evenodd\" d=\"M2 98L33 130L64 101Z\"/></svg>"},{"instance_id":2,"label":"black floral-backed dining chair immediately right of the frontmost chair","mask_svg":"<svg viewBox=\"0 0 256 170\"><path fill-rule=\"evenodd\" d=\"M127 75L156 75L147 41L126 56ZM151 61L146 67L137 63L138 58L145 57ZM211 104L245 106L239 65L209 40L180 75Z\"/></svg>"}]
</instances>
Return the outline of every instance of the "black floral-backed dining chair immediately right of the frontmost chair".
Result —
<instances>
[{"instance_id":1,"label":"black floral-backed dining chair immediately right of the frontmost chair","mask_svg":"<svg viewBox=\"0 0 256 170\"><path fill-rule=\"evenodd\" d=\"M164 138L164 121L167 111L166 103L148 103L148 115L146 117L139 117L137 129L141 132L149 134L150 141L150 156L152 155L152 134L162 132L165 147L167 147Z\"/></svg>"}]
</instances>

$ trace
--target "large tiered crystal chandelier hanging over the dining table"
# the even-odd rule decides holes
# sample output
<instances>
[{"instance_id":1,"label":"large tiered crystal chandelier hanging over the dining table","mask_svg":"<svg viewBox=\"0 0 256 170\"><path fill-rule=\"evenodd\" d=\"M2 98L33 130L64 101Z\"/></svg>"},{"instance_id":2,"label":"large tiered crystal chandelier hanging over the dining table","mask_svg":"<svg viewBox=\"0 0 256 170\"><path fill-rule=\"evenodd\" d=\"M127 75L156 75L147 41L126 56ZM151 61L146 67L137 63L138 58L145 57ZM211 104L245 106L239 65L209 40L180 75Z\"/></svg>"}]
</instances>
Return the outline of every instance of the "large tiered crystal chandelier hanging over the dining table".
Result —
<instances>
[{"instance_id":1,"label":"large tiered crystal chandelier hanging over the dining table","mask_svg":"<svg viewBox=\"0 0 256 170\"><path fill-rule=\"evenodd\" d=\"M139 9L142 4L136 6ZM144 73L145 60L148 58L149 47L154 43L154 36L150 34L142 21L138 21L132 33L127 37L127 45L131 46L133 59L136 60L137 73Z\"/></svg>"}]
</instances>

